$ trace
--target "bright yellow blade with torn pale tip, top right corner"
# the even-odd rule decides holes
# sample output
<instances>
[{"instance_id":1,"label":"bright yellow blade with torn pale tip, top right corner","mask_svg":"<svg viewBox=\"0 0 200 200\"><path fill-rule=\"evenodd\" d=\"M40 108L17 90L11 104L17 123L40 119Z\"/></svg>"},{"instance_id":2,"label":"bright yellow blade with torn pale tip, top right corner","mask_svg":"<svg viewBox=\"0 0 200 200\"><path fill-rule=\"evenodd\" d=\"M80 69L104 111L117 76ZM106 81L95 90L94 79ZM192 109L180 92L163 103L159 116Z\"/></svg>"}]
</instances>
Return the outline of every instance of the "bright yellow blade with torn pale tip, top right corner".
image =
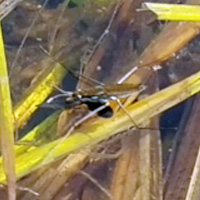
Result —
<instances>
[{"instance_id":1,"label":"bright yellow blade with torn pale tip, top right corner","mask_svg":"<svg viewBox=\"0 0 200 200\"><path fill-rule=\"evenodd\" d=\"M200 21L200 6L165 3L143 3L142 9L155 13L159 20Z\"/></svg>"}]
</instances>

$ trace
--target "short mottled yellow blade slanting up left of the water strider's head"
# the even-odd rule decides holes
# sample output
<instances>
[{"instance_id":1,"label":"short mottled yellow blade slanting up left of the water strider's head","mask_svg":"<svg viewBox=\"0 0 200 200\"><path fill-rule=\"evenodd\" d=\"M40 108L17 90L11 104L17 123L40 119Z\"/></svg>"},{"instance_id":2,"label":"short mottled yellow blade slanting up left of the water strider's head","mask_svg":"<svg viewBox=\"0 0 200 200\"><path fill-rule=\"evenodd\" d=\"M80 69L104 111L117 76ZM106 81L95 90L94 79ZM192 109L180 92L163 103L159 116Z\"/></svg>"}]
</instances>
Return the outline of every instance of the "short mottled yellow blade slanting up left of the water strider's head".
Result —
<instances>
[{"instance_id":1,"label":"short mottled yellow blade slanting up left of the water strider's head","mask_svg":"<svg viewBox=\"0 0 200 200\"><path fill-rule=\"evenodd\" d=\"M52 63L51 63L52 64ZM66 69L59 63L49 66L38 80L26 92L25 97L14 108L16 129L22 127L44 100L55 89L66 74Z\"/></svg>"}]
</instances>

